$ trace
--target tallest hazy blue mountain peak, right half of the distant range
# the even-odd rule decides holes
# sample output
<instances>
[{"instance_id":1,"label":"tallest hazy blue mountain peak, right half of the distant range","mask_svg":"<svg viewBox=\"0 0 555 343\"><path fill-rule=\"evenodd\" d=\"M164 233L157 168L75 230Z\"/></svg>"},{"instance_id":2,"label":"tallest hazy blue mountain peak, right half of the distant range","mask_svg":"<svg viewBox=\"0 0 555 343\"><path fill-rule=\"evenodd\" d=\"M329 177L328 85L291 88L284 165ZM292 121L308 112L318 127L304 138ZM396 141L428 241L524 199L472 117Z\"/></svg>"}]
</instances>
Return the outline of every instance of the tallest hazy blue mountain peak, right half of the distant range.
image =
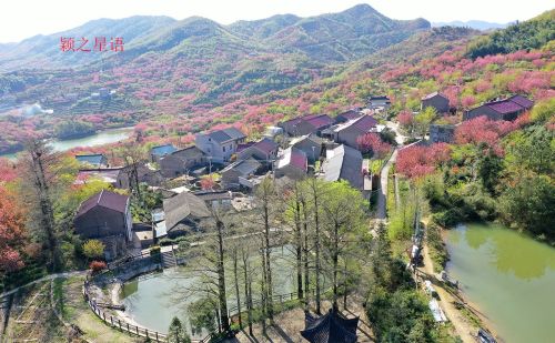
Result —
<instances>
[{"instance_id":1,"label":"tallest hazy blue mountain peak, right half of the distant range","mask_svg":"<svg viewBox=\"0 0 555 343\"><path fill-rule=\"evenodd\" d=\"M430 28L424 19L393 20L369 4L357 4L340 13L310 18L275 16L229 27L242 37L262 39L279 51L302 52L320 61L357 59Z\"/></svg>"}]
</instances>

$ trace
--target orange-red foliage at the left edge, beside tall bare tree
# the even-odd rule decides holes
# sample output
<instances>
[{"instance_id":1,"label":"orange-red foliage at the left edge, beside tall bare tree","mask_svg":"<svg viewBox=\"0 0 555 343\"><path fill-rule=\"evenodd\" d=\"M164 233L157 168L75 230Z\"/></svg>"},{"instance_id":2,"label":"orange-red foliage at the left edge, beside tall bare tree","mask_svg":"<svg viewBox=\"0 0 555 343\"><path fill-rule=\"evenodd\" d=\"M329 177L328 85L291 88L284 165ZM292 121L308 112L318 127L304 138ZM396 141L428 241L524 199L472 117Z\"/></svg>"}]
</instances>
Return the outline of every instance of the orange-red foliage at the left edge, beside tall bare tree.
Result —
<instances>
[{"instance_id":1,"label":"orange-red foliage at the left edge, beside tall bare tree","mask_svg":"<svg viewBox=\"0 0 555 343\"><path fill-rule=\"evenodd\" d=\"M12 194L0 186L0 271L14 271L23 266L17 251L23 238L23 214Z\"/></svg>"}]
</instances>

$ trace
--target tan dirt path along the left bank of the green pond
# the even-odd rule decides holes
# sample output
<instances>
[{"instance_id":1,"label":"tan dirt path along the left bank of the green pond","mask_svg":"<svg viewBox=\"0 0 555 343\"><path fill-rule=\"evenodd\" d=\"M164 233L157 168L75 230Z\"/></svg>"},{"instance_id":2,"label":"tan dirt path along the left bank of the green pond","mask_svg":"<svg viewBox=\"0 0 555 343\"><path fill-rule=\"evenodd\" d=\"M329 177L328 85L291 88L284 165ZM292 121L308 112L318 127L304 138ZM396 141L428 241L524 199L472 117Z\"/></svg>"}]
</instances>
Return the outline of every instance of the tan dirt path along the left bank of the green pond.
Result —
<instances>
[{"instance_id":1,"label":"tan dirt path along the left bank of the green pond","mask_svg":"<svg viewBox=\"0 0 555 343\"><path fill-rule=\"evenodd\" d=\"M432 263L432 259L430 258L430 253L427 251L426 245L424 245L423 248L423 256L424 256L424 268L421 268L418 270L422 270L428 275L434 275L434 266ZM458 336L465 343L475 343L476 339L473 336L473 334L477 332L477 326L471 323L470 320L465 317L463 313L455 307L453 303L457 300L453 295L451 295L445 289L443 289L438 284L434 284L434 287L437 291L437 294L440 295L438 300L440 306L442 307L443 312L445 312L445 315L447 315L448 320L455 327Z\"/></svg>"}]
</instances>

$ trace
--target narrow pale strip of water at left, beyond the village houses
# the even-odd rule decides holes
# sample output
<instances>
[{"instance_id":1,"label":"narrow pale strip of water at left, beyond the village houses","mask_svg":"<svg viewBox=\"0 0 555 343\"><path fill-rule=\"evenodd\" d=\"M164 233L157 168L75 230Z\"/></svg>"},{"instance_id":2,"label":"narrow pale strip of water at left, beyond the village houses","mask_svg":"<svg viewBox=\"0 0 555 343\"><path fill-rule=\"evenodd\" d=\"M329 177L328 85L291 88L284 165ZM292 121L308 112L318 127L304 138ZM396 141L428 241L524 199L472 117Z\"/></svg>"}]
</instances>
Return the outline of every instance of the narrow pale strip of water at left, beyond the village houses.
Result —
<instances>
[{"instance_id":1,"label":"narrow pale strip of water at left, beyond the village houses","mask_svg":"<svg viewBox=\"0 0 555 343\"><path fill-rule=\"evenodd\" d=\"M99 131L94 134L71 140L52 140L48 145L54 151L68 151L78 147L97 147L115 143L128 139L133 132L133 128L120 128ZM17 153L0 154L0 158L16 159Z\"/></svg>"}]
</instances>

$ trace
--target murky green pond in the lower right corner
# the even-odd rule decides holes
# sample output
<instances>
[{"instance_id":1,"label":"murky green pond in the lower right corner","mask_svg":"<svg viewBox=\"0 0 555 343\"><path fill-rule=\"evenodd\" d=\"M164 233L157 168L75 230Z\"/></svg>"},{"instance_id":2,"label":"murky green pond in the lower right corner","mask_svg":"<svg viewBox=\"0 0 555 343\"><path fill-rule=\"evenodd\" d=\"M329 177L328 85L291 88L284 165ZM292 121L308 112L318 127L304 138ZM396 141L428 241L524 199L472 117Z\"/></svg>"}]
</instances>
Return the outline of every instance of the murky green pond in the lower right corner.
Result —
<instances>
[{"instance_id":1,"label":"murky green pond in the lower right corner","mask_svg":"<svg viewBox=\"0 0 555 343\"><path fill-rule=\"evenodd\" d=\"M508 343L555 342L555 249L496 224L447 233L447 271Z\"/></svg>"}]
</instances>

